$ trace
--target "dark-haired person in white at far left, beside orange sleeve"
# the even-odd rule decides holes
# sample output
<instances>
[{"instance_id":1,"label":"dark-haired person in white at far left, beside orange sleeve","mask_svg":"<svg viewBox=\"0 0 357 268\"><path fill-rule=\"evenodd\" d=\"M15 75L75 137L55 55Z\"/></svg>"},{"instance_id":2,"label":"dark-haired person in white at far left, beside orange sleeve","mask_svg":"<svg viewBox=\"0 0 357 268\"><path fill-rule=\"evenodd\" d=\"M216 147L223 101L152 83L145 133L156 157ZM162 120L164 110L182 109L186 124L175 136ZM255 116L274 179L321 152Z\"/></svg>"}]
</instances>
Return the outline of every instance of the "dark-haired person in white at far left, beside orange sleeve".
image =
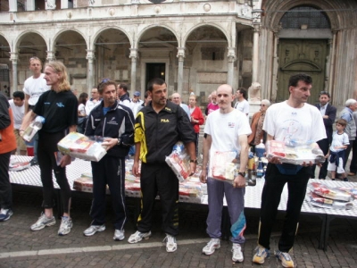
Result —
<instances>
[{"instance_id":1,"label":"dark-haired person in white at far left, beside orange sleeve","mask_svg":"<svg viewBox=\"0 0 357 268\"><path fill-rule=\"evenodd\" d=\"M12 99L9 104L12 108L13 115L13 133L16 137L16 145L19 149L20 155L26 155L26 145L20 136L20 129L23 116L25 115L25 94L22 91L15 91L12 93ZM16 150L12 152L14 155Z\"/></svg>"}]
</instances>

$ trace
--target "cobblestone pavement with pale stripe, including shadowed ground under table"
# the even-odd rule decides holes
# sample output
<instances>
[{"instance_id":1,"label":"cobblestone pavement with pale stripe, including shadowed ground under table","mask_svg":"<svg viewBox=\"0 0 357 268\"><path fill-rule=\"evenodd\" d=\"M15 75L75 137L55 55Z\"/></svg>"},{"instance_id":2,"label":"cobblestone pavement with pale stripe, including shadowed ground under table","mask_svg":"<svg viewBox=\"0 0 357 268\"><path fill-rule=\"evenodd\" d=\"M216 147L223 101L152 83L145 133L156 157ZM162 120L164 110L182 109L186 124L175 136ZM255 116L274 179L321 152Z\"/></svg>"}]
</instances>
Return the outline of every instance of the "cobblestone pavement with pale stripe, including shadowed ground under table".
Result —
<instances>
[{"instance_id":1,"label":"cobblestone pavement with pale stripe, including shadowed ground under table","mask_svg":"<svg viewBox=\"0 0 357 268\"><path fill-rule=\"evenodd\" d=\"M350 177L357 181L357 176ZM64 237L57 235L60 221L44 230L31 231L41 212L40 188L13 187L12 218L0 222L0 267L282 267L277 258L270 256L265 264L253 264L253 249L256 247L259 211L247 209L245 231L245 261L234 264L231 260L231 243L221 241L220 249L213 255L203 255L202 248L208 242L205 233L207 207L203 205L179 205L179 248L167 253L162 239L160 202L154 210L153 236L139 244L129 244L127 239L135 231L135 200L128 199L129 222L126 224L126 239L114 241L112 207L107 200L107 229L93 237L84 237L82 232L90 224L90 194L75 194L71 216L74 227ZM260 198L260 197L257 197ZM55 210L55 209L54 209ZM277 248L278 235L284 214L278 221L271 238L271 250ZM302 215L294 252L298 267L357 267L357 221L336 219L330 224L328 251L318 249L320 218Z\"/></svg>"}]
</instances>

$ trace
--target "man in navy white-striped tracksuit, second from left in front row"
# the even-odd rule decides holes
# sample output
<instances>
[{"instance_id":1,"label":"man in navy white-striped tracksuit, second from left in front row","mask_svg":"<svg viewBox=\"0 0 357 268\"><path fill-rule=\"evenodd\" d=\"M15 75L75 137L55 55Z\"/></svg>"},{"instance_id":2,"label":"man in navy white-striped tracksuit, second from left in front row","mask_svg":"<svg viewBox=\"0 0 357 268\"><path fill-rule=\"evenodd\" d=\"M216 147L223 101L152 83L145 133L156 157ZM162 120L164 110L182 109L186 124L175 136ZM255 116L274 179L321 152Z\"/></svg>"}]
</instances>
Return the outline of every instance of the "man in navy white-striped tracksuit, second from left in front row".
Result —
<instances>
[{"instance_id":1,"label":"man in navy white-striped tracksuit, second from left in front row","mask_svg":"<svg viewBox=\"0 0 357 268\"><path fill-rule=\"evenodd\" d=\"M89 114L85 134L104 138L107 154L99 162L91 162L93 173L93 222L83 233L92 236L105 230L105 189L109 186L114 210L114 240L121 241L127 222L125 206L125 156L134 143L134 116L116 98L116 83L104 79L98 85L103 101Z\"/></svg>"}]
</instances>

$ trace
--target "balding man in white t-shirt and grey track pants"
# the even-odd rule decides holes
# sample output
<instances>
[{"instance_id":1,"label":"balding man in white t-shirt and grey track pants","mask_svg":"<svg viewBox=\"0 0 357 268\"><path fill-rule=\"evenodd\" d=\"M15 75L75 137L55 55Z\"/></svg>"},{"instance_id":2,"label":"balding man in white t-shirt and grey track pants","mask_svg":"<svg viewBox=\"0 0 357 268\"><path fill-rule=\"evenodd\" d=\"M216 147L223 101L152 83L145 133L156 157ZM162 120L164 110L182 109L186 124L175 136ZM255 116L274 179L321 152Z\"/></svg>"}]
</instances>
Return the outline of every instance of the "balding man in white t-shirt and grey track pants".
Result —
<instances>
[{"instance_id":1,"label":"balding man in white t-shirt and grey track pants","mask_svg":"<svg viewBox=\"0 0 357 268\"><path fill-rule=\"evenodd\" d=\"M245 169L248 163L248 135L252 133L249 121L244 113L232 107L233 88L221 85L217 89L217 101L220 109L207 116L204 126L203 166L200 180L207 183L208 207L207 234L211 240L203 247L203 254L212 255L220 248L220 222L223 209L223 197L226 196L231 223L232 261L244 261L241 245L245 243ZM233 184L212 179L212 160L216 152L237 152L240 168ZM207 164L210 172L207 176Z\"/></svg>"}]
</instances>

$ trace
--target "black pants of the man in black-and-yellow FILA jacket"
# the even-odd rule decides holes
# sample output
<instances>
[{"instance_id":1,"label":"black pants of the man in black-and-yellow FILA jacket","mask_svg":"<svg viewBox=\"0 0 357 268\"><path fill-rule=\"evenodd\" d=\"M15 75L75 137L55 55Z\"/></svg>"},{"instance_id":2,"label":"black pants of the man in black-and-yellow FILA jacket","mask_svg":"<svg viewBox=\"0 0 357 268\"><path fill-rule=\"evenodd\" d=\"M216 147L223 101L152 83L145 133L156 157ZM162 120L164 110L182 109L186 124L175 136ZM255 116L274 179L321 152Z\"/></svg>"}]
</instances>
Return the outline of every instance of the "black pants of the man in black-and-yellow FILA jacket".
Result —
<instances>
[{"instance_id":1,"label":"black pants of the man in black-and-yellow FILA jacket","mask_svg":"<svg viewBox=\"0 0 357 268\"><path fill-rule=\"evenodd\" d=\"M148 232L152 228L155 197L162 204L162 230L171 236L179 234L179 179L167 163L141 165L141 214L137 230Z\"/></svg>"}]
</instances>

